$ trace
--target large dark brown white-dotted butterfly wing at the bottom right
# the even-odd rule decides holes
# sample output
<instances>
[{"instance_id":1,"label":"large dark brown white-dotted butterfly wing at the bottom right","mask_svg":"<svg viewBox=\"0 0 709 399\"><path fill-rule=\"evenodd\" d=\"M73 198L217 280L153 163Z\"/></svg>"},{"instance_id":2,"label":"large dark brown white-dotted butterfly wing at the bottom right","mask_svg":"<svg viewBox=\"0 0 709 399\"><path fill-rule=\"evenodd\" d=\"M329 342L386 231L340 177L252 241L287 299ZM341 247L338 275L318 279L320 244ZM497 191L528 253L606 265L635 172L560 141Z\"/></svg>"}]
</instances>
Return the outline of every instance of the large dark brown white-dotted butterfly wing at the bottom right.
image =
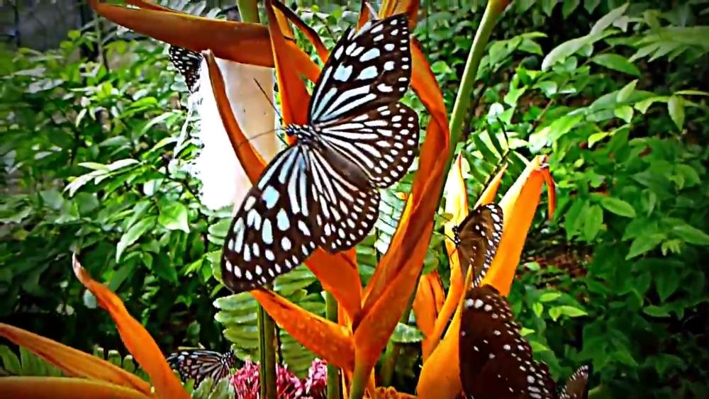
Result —
<instances>
[{"instance_id":1,"label":"large dark brown white-dotted butterfly wing at the bottom right","mask_svg":"<svg viewBox=\"0 0 709 399\"><path fill-rule=\"evenodd\" d=\"M471 287L459 332L460 380L475 399L556 398L547 365L532 359L512 310L492 286Z\"/></svg>"}]
</instances>

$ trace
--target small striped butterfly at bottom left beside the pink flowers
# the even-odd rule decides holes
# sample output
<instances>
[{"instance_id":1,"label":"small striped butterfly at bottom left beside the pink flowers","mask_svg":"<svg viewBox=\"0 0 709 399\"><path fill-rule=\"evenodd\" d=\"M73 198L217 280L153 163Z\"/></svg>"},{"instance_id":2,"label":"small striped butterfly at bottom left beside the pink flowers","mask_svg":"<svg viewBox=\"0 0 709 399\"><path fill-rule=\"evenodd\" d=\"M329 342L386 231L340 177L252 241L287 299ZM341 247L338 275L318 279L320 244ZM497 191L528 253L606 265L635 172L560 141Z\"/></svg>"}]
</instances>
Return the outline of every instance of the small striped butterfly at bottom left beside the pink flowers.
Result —
<instances>
[{"instance_id":1,"label":"small striped butterfly at bottom left beside the pink flowers","mask_svg":"<svg viewBox=\"0 0 709 399\"><path fill-rule=\"evenodd\" d=\"M204 378L211 377L216 382L228 376L235 362L232 351L221 353L188 349L167 356L170 367L176 369L184 381L194 379L195 387L199 386Z\"/></svg>"}]
</instances>

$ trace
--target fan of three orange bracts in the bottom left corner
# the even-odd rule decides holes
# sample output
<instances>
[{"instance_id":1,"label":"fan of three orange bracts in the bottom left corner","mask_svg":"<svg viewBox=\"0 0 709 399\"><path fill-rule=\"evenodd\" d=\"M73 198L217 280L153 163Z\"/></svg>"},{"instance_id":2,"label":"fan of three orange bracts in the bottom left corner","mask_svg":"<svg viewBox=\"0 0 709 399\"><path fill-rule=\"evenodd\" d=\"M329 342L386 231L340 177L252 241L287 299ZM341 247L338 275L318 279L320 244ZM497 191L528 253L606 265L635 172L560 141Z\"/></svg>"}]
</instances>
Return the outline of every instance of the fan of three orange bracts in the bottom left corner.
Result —
<instances>
[{"instance_id":1,"label":"fan of three orange bracts in the bottom left corner","mask_svg":"<svg viewBox=\"0 0 709 399\"><path fill-rule=\"evenodd\" d=\"M62 370L67 377L0 378L3 398L189 398L155 341L115 293L91 279L74 257L74 274L116 322L118 333L152 382L143 381L108 361L11 325L0 324L0 336L25 347ZM77 378L79 377L79 378Z\"/></svg>"}]
</instances>

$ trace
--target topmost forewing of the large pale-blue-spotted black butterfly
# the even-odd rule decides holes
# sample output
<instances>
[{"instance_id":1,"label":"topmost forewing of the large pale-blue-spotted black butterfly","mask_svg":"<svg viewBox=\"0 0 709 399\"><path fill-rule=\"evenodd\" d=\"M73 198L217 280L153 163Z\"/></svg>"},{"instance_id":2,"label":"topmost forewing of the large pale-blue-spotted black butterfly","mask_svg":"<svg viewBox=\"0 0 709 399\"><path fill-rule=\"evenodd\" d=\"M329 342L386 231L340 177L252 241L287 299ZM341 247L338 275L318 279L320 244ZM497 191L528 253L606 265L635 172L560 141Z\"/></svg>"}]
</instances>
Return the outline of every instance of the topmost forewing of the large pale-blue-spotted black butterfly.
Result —
<instances>
[{"instance_id":1,"label":"topmost forewing of the large pale-blue-spotted black butterfly","mask_svg":"<svg viewBox=\"0 0 709 399\"><path fill-rule=\"evenodd\" d=\"M309 124L359 116L401 99L411 81L409 40L406 14L345 31L316 83Z\"/></svg>"}]
</instances>

